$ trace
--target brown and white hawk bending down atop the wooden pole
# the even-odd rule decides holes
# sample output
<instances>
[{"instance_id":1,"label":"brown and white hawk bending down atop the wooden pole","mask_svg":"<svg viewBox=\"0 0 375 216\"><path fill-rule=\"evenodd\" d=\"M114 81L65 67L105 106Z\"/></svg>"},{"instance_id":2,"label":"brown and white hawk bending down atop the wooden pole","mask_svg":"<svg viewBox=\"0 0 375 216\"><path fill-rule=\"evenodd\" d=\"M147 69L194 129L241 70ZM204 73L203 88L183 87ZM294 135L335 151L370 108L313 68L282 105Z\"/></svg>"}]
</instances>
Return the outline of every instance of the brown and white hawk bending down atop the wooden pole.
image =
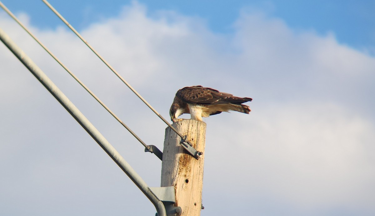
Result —
<instances>
[{"instance_id":1,"label":"brown and white hawk bending down atop the wooden pole","mask_svg":"<svg viewBox=\"0 0 375 216\"><path fill-rule=\"evenodd\" d=\"M172 122L176 122L182 120L177 117L183 113L190 113L191 119L199 121L202 121L202 117L229 112L229 110L249 114L251 111L249 106L242 104L248 101L252 101L252 98L235 97L201 85L190 86L177 91L169 115Z\"/></svg>"}]
</instances>

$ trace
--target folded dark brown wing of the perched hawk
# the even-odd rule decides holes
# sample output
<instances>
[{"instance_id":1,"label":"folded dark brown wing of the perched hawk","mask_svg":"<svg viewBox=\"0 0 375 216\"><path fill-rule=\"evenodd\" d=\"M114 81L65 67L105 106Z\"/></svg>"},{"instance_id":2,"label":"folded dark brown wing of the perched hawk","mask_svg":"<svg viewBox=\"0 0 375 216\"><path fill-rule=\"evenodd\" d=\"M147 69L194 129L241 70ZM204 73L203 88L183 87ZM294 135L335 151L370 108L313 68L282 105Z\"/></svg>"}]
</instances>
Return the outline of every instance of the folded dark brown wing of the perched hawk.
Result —
<instances>
[{"instance_id":1,"label":"folded dark brown wing of the perched hawk","mask_svg":"<svg viewBox=\"0 0 375 216\"><path fill-rule=\"evenodd\" d=\"M204 88L200 85L182 88L177 91L176 96L190 104L242 104L252 100L248 97L235 97L232 94L219 92L212 88Z\"/></svg>"}]
</instances>

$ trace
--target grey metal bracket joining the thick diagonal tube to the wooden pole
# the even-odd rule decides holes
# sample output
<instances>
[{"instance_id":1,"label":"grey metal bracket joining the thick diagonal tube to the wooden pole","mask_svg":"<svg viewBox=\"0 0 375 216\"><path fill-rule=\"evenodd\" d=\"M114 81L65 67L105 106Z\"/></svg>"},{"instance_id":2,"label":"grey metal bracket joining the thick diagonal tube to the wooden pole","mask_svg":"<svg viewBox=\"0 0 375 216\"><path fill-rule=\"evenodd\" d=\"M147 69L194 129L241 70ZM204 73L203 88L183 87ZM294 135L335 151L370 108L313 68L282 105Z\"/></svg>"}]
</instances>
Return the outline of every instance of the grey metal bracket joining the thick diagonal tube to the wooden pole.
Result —
<instances>
[{"instance_id":1,"label":"grey metal bracket joining the thick diagonal tube to the wooden pole","mask_svg":"<svg viewBox=\"0 0 375 216\"><path fill-rule=\"evenodd\" d=\"M165 207L167 216L180 216L182 213L181 207L174 206L176 203L176 197L174 192L174 186L150 188L150 190L161 200ZM158 216L157 213L155 216Z\"/></svg>"}]
</instances>

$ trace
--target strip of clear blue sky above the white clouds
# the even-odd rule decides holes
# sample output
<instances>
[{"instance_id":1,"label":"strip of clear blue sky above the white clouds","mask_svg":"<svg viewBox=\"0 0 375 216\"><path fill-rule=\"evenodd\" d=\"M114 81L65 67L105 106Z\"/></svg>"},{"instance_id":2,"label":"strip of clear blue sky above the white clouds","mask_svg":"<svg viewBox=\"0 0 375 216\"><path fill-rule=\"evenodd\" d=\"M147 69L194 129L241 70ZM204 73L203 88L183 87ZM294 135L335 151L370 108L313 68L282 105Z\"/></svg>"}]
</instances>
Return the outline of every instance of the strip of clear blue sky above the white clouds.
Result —
<instances>
[{"instance_id":1,"label":"strip of clear blue sky above the white clouds","mask_svg":"<svg viewBox=\"0 0 375 216\"><path fill-rule=\"evenodd\" d=\"M117 16L121 6L130 2L119 0L50 1L60 13L68 16L68 21L77 29L103 18ZM368 52L372 55L375 52L375 2L371 0L138 2L146 4L150 14L156 10L172 10L186 16L199 17L206 22L210 30L219 33L233 31L232 25L239 17L241 10L256 8L283 19L297 30L311 29L322 35L332 32L341 43L357 49L371 49ZM42 1L5 0L3 3L13 12L27 12L31 17L31 24L38 27L53 28L60 25Z\"/></svg>"}]
</instances>

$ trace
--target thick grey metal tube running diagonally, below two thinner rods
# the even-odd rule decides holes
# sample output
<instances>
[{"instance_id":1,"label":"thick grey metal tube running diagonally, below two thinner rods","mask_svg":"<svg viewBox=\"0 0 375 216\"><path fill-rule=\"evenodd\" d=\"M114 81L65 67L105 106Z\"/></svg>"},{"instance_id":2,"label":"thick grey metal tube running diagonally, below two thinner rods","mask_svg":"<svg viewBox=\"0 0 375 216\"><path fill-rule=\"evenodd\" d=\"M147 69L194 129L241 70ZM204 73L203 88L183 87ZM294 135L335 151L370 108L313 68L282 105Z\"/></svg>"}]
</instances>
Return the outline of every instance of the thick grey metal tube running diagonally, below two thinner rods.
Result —
<instances>
[{"instance_id":1,"label":"thick grey metal tube running diagonally, below two thinner rods","mask_svg":"<svg viewBox=\"0 0 375 216\"><path fill-rule=\"evenodd\" d=\"M28 70L48 89L60 104L77 120L90 136L103 148L113 161L126 173L136 186L154 204L158 216L166 216L162 201L150 190L144 180L133 170L117 150L104 136L89 122L89 120L74 106L74 104L57 88L57 86L40 70L40 68L5 34L0 28L0 40L27 67Z\"/></svg>"}]
</instances>

